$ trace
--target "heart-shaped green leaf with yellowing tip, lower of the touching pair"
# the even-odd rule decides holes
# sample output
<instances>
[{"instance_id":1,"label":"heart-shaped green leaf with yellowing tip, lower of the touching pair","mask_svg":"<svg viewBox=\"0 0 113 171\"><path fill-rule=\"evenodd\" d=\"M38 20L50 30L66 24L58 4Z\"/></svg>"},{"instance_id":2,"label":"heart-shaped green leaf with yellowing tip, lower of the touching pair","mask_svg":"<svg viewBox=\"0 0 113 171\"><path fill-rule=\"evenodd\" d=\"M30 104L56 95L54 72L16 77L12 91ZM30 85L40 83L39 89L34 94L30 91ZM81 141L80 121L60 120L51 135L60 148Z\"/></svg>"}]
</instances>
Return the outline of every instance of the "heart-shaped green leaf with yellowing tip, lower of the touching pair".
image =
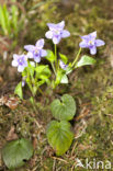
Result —
<instances>
[{"instance_id":1,"label":"heart-shaped green leaf with yellowing tip, lower of the touching pair","mask_svg":"<svg viewBox=\"0 0 113 171\"><path fill-rule=\"evenodd\" d=\"M57 156L64 155L69 149L74 139L74 133L70 132L70 124L66 121L50 122L46 134L48 142Z\"/></svg>"}]
</instances>

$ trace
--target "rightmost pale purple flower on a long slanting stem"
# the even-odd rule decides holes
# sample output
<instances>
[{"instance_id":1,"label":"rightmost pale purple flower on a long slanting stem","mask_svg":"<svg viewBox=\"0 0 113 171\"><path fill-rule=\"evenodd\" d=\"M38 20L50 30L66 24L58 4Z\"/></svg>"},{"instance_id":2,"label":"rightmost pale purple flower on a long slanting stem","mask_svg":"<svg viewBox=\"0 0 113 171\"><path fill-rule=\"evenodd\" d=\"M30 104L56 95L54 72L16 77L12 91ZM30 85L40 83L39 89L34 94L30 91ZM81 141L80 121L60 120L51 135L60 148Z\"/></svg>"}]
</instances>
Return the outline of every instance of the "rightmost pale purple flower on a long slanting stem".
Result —
<instances>
[{"instance_id":1,"label":"rightmost pale purple flower on a long slanting stem","mask_svg":"<svg viewBox=\"0 0 113 171\"><path fill-rule=\"evenodd\" d=\"M91 55L97 54L97 47L105 45L104 41L95 39L97 31L88 35L81 36L82 42L79 44L81 48L89 48Z\"/></svg>"}]
</instances>

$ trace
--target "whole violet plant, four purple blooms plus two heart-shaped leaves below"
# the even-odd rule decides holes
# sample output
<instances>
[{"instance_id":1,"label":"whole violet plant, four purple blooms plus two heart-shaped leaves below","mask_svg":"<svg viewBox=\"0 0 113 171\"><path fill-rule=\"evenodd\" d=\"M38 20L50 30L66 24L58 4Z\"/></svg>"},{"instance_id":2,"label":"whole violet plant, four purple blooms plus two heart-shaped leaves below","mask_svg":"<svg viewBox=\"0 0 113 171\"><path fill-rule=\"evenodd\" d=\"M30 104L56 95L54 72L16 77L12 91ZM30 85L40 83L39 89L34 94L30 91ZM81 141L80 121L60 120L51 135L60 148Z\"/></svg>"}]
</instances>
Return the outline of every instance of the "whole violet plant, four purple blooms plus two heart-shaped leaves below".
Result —
<instances>
[{"instance_id":1,"label":"whole violet plant, four purple blooms plus two heart-shaped leaves below","mask_svg":"<svg viewBox=\"0 0 113 171\"><path fill-rule=\"evenodd\" d=\"M41 93L41 86L46 83L55 89L60 83L68 83L68 75L75 69L94 65L95 59L83 55L80 57L82 48L89 48L91 55L97 54L97 47L103 46L105 43L102 39L97 39L97 32L92 32L89 35L81 36L82 42L79 44L79 50L74 61L68 61L68 57L57 52L57 45L61 38L70 36L70 33L65 30L65 21L58 24L48 23L49 31L45 36L52 39L55 50L45 50L44 39L39 39L34 45L25 45L24 49L27 52L23 55L13 55L12 66L18 67L18 71L22 73L22 81L15 88L15 93L22 99L22 86L26 83L32 92L31 101L34 104L35 95L37 91ZM52 65L52 69L48 65L42 65L41 60L44 58ZM53 77L50 77L54 75ZM50 104L53 116L56 121L53 121L47 126L47 139L50 146L55 149L58 156L64 155L70 147L74 140L74 133L70 130L70 123L76 114L75 99L68 94L64 94L60 99L54 100Z\"/></svg>"}]
</instances>

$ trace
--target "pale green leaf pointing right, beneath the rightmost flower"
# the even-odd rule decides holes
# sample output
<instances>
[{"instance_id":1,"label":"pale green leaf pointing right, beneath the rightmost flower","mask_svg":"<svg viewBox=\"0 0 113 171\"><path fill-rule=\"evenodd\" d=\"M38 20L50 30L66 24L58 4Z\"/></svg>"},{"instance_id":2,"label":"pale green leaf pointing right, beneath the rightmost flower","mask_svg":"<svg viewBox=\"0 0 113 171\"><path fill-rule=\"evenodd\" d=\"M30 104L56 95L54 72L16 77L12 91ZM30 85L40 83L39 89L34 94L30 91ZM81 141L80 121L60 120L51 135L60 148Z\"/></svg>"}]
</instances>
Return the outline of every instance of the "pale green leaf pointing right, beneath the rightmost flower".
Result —
<instances>
[{"instance_id":1,"label":"pale green leaf pointing right, beneath the rightmost flower","mask_svg":"<svg viewBox=\"0 0 113 171\"><path fill-rule=\"evenodd\" d=\"M81 59L77 62L75 68L87 66L87 65L94 65L97 61L95 59L89 57L89 56L82 56Z\"/></svg>"}]
</instances>

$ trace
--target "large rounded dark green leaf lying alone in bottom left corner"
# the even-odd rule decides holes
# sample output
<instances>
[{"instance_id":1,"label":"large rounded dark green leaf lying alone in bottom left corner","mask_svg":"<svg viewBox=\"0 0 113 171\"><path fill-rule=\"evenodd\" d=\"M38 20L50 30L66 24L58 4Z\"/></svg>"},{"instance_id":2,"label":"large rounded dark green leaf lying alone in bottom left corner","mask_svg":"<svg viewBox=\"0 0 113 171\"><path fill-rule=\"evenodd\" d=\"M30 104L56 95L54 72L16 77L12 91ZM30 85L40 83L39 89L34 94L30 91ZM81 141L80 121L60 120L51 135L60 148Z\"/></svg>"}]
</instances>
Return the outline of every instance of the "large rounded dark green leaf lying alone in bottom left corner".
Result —
<instances>
[{"instance_id":1,"label":"large rounded dark green leaf lying alone in bottom left corner","mask_svg":"<svg viewBox=\"0 0 113 171\"><path fill-rule=\"evenodd\" d=\"M2 158L9 169L22 167L32 155L33 146L24 138L10 141L2 149Z\"/></svg>"}]
</instances>

